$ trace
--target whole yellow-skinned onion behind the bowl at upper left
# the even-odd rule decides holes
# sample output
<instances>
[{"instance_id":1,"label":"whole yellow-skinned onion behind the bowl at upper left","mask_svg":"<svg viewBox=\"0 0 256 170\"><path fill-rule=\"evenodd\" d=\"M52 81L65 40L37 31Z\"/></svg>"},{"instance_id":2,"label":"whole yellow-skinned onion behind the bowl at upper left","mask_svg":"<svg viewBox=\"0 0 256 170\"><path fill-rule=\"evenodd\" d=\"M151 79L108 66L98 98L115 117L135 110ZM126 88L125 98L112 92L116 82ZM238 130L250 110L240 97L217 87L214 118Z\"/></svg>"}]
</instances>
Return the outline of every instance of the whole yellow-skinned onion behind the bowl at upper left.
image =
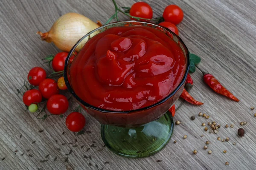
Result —
<instances>
[{"instance_id":1,"label":"whole yellow-skinned onion behind the bowl at upper left","mask_svg":"<svg viewBox=\"0 0 256 170\"><path fill-rule=\"evenodd\" d=\"M98 27L84 15L67 13L59 17L50 31L38 31L37 34L40 34L41 40L53 42L61 51L68 52L81 37Z\"/></svg>"}]
</instances>

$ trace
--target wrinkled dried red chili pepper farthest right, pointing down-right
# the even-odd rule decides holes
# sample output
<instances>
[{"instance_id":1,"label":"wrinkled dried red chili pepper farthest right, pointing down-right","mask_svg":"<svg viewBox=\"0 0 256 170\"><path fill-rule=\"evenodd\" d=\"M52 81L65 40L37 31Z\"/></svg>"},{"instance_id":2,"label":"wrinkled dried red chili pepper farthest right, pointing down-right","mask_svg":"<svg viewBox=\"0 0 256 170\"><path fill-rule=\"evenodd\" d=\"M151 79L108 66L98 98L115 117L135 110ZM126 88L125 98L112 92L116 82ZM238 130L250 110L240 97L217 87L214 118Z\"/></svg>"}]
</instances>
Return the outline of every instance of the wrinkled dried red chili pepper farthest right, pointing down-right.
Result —
<instances>
[{"instance_id":1,"label":"wrinkled dried red chili pepper farthest right, pointing down-right","mask_svg":"<svg viewBox=\"0 0 256 170\"><path fill-rule=\"evenodd\" d=\"M220 82L218 82L217 79L215 79L215 77L212 76L212 74L205 74L204 73L204 82L209 85L209 87L215 91L218 94L222 94L224 96L227 96L228 98L239 102L239 99L237 99L232 93L230 93L230 91L228 91L226 88L223 87L223 85L221 85Z\"/></svg>"}]
</instances>

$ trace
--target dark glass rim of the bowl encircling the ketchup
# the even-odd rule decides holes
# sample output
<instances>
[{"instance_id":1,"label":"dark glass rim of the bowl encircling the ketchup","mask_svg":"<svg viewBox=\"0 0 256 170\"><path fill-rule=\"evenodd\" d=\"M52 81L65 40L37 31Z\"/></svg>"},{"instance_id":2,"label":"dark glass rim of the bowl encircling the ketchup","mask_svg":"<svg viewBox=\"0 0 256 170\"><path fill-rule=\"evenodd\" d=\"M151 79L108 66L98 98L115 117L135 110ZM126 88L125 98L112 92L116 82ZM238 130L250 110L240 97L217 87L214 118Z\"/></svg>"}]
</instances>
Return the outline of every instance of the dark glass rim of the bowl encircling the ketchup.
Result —
<instances>
[{"instance_id":1,"label":"dark glass rim of the bowl encircling the ketchup","mask_svg":"<svg viewBox=\"0 0 256 170\"><path fill-rule=\"evenodd\" d=\"M76 47L80 44L80 42L82 42L84 40L84 38L88 37L90 34L98 31L99 29L102 29L102 28L105 28L107 26L112 26L112 25L115 25L115 24L118 24L118 23L143 23L143 24L151 24L152 26L156 26L158 28L162 28L164 29L166 32L169 32L171 33L172 35L174 35L177 39L178 39L178 42L180 42L180 44L183 46L184 50L187 51L187 54L186 54L186 72L181 80L181 82L179 83L179 85L177 86L177 88L175 88L174 91L172 91L168 96L166 96L165 98L161 99L159 102L156 102L154 103L153 105L149 105L147 107L143 107L143 108L139 108L139 109L135 109L135 110L129 110L129 111L111 111L111 110L108 110L108 109L102 109L102 108L98 108L96 106L93 106L93 105L90 105L89 103L85 102L84 100L82 100L79 96L76 95L75 91L73 91L73 88L71 87L70 85L70 82L67 78L67 67L68 67L68 62L69 62L69 59L70 57L73 55L73 51L75 51ZM136 25L134 25L136 26ZM113 28L113 27L111 27ZM80 40L78 40L78 42L76 42L76 44L71 48L66 60L65 60L65 65L64 65L64 80L65 80L65 84L67 85L67 89L68 91L70 92L70 94L72 94L72 96L74 96L82 105L88 107L88 108L92 108L96 111L100 111L100 112L103 112L103 113L133 113L133 112L137 112L137 111L143 111L143 110L147 110L147 109L150 109L150 108L153 108L157 105L160 105L164 102L166 102L169 98L171 98L172 96L174 96L177 91L180 89L180 87L185 83L186 81L186 77L189 73L189 67L190 67L190 63L189 63L189 50L188 48L186 47L186 45L184 44L184 42L181 40L181 38L179 36L177 36L174 32L172 32L171 30L169 30L168 28L166 27L163 27L163 26L159 26L155 23L151 23L151 22L148 22L148 21L135 21L135 20L131 20L131 21L117 21L117 22L113 22L113 23L109 23L109 24L106 24L106 25L103 25L103 26L100 26L99 28L96 28L94 29L93 31L90 31L88 32L87 34L85 34L83 37L81 37Z\"/></svg>"}]
</instances>

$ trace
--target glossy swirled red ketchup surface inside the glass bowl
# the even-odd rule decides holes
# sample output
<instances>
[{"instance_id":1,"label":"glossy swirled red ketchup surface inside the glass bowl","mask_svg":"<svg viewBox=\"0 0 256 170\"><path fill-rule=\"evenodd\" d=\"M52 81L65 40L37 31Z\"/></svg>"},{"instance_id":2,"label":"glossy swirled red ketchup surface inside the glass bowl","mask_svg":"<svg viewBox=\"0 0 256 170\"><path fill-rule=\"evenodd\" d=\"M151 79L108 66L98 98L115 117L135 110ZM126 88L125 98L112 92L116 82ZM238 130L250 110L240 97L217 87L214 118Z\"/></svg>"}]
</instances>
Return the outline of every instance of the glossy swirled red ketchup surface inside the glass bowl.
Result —
<instances>
[{"instance_id":1,"label":"glossy swirled red ketchup surface inside the glass bowl","mask_svg":"<svg viewBox=\"0 0 256 170\"><path fill-rule=\"evenodd\" d=\"M182 80L186 61L163 31L113 27L86 42L70 67L75 93L98 108L129 111L159 102Z\"/></svg>"}]
</instances>

